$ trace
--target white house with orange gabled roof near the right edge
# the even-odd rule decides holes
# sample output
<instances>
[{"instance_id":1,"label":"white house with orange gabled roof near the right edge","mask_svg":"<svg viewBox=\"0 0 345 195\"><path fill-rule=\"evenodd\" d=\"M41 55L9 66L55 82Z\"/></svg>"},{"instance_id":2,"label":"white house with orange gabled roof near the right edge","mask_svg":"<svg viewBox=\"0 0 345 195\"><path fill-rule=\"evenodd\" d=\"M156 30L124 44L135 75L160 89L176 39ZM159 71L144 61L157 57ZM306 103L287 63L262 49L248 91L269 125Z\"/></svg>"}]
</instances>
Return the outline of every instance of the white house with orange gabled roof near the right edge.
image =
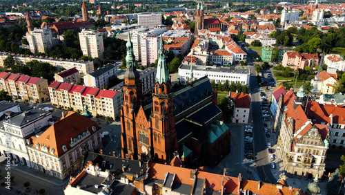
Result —
<instances>
[{"instance_id":1,"label":"white house with orange gabled roof near the right edge","mask_svg":"<svg viewBox=\"0 0 345 195\"><path fill-rule=\"evenodd\" d=\"M311 85L314 86L313 91L318 94L333 94L334 85L337 82L337 74L327 73L322 71L315 75L315 78L311 80Z\"/></svg>"}]
</instances>

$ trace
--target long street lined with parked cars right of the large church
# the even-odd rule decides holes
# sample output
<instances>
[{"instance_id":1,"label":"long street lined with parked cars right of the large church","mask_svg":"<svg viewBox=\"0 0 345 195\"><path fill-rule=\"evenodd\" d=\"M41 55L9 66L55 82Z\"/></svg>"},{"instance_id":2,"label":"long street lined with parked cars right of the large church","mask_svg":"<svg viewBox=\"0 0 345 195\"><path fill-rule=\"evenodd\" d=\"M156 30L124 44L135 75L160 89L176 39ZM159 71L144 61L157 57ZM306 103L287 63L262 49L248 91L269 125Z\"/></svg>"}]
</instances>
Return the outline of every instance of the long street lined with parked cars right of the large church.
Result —
<instances>
[{"instance_id":1,"label":"long street lined with parked cars right of the large church","mask_svg":"<svg viewBox=\"0 0 345 195\"><path fill-rule=\"evenodd\" d=\"M253 60L253 59L252 59ZM250 61L252 61L250 60ZM252 61L253 62L253 61ZM251 97L251 111L253 119L253 127L257 131L253 131L254 138L254 152L256 157L256 169L260 179L266 183L276 183L277 180L273 176L270 170L270 160L268 158L268 149L266 144L266 136L264 129L264 123L262 117L253 117L254 115L262 116L261 109L261 97L259 95L259 86L257 84L257 78L255 76L254 66L248 66L250 68L250 97Z\"/></svg>"}]
</instances>

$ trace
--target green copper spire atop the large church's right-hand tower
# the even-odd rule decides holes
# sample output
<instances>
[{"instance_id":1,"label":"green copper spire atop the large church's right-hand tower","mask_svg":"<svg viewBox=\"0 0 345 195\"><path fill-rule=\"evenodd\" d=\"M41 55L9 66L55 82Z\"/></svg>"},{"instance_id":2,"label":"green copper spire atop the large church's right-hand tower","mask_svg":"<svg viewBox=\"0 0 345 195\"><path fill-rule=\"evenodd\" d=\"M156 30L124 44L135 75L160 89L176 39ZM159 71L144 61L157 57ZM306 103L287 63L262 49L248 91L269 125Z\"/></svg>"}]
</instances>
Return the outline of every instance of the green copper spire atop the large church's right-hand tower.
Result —
<instances>
[{"instance_id":1,"label":"green copper spire atop the large church's right-hand tower","mask_svg":"<svg viewBox=\"0 0 345 195\"><path fill-rule=\"evenodd\" d=\"M161 32L161 48L159 48L159 52L158 52L158 65L157 65L156 79L159 84L162 84L162 83L166 84L169 80L168 68L166 66L166 52L163 46L162 32Z\"/></svg>"}]
</instances>

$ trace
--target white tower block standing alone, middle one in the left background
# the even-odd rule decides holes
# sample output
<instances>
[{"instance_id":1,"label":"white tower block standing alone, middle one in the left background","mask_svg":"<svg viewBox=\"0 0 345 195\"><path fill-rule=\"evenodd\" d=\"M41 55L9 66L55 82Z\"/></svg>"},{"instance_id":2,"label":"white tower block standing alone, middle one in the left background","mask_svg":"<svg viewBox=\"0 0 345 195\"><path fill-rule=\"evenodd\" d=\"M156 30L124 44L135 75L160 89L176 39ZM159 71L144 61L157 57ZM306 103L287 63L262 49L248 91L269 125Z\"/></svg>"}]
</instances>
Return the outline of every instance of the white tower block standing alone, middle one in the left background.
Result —
<instances>
[{"instance_id":1,"label":"white tower block standing alone, middle one in the left background","mask_svg":"<svg viewBox=\"0 0 345 195\"><path fill-rule=\"evenodd\" d=\"M81 30L79 32L80 48L85 56L103 57L103 36L97 30Z\"/></svg>"}]
</instances>

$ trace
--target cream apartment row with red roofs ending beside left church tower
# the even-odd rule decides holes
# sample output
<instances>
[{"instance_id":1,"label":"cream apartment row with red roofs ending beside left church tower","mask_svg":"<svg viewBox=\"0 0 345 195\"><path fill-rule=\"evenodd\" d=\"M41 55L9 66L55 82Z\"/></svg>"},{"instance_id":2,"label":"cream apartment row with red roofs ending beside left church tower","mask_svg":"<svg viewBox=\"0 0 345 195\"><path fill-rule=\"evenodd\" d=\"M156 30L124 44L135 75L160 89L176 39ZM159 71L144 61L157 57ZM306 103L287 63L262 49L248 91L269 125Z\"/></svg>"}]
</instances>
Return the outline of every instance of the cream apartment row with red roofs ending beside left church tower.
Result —
<instances>
[{"instance_id":1,"label":"cream apartment row with red roofs ending beside left church tower","mask_svg":"<svg viewBox=\"0 0 345 195\"><path fill-rule=\"evenodd\" d=\"M52 82L48 86L50 102L62 109L73 109L83 113L83 106L93 116L102 115L112 118L119 116L121 111L122 93L119 91L103 90L88 86L69 83Z\"/></svg>"}]
</instances>

